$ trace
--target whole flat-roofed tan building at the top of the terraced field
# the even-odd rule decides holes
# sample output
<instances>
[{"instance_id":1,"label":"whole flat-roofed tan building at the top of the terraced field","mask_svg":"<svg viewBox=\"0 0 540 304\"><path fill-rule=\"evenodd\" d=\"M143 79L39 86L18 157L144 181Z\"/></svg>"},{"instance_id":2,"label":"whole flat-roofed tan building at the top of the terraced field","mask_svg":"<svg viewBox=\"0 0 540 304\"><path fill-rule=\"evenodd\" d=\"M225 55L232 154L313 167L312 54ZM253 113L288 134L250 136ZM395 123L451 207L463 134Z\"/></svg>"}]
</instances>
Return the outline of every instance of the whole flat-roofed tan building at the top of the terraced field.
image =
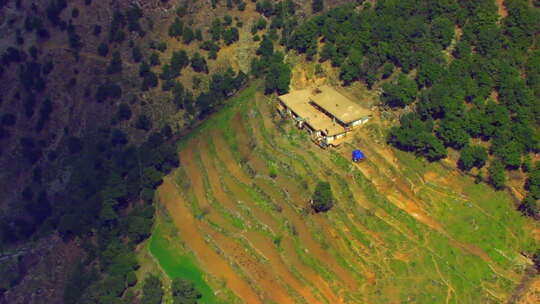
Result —
<instances>
[{"instance_id":1,"label":"whole flat-roofed tan building at the top of the terraced field","mask_svg":"<svg viewBox=\"0 0 540 304\"><path fill-rule=\"evenodd\" d=\"M347 133L371 117L369 110L327 85L292 91L278 101L278 111L291 116L321 147L339 145Z\"/></svg>"}]
</instances>

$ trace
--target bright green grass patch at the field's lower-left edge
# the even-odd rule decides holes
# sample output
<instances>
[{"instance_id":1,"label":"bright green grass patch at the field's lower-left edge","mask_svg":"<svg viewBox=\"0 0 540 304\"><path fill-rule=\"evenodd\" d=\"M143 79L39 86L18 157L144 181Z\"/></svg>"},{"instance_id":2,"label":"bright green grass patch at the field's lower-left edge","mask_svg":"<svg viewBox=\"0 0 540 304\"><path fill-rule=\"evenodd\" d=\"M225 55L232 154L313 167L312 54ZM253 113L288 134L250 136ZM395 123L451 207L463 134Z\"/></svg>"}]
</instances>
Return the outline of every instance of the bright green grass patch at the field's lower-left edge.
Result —
<instances>
[{"instance_id":1,"label":"bright green grass patch at the field's lower-left edge","mask_svg":"<svg viewBox=\"0 0 540 304\"><path fill-rule=\"evenodd\" d=\"M222 303L206 283L205 274L197 266L195 259L187 253L178 253L179 250L176 250L175 246L165 238L159 226L152 233L148 247L169 278L183 278L193 282L196 289L203 295L199 303Z\"/></svg>"}]
</instances>

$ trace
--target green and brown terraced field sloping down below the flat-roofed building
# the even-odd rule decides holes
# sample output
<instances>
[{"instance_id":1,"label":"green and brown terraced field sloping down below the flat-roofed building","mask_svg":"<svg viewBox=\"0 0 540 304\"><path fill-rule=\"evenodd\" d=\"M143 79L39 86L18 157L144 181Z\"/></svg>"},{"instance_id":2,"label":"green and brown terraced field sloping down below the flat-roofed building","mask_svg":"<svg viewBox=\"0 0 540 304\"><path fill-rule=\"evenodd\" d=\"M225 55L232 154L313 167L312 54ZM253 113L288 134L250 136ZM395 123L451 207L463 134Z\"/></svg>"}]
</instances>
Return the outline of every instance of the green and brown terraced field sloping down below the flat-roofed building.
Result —
<instances>
[{"instance_id":1,"label":"green and brown terraced field sloping down below the flat-roofed building","mask_svg":"<svg viewBox=\"0 0 540 304\"><path fill-rule=\"evenodd\" d=\"M353 165L353 147L368 161ZM223 302L503 303L535 246L506 193L390 149L376 122L320 150L256 87L184 139L179 157L158 199L222 282L208 285L236 295ZM337 204L313 214L321 180Z\"/></svg>"}]
</instances>

